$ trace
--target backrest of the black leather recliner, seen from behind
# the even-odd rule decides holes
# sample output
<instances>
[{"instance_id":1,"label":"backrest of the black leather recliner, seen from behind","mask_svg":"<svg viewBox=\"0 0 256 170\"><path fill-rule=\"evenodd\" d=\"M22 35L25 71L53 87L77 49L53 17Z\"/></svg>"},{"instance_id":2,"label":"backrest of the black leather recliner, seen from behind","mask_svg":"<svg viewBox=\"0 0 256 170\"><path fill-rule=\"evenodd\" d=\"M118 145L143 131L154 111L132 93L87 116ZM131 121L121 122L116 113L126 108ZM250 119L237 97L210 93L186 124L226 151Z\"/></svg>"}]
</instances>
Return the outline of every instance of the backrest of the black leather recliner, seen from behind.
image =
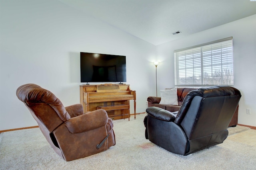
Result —
<instances>
[{"instance_id":1,"label":"backrest of the black leather recliner, seen from behind","mask_svg":"<svg viewBox=\"0 0 256 170\"><path fill-rule=\"evenodd\" d=\"M185 97L174 123L184 129L189 140L224 131L240 98L240 91L230 86L193 90Z\"/></svg>"}]
</instances>

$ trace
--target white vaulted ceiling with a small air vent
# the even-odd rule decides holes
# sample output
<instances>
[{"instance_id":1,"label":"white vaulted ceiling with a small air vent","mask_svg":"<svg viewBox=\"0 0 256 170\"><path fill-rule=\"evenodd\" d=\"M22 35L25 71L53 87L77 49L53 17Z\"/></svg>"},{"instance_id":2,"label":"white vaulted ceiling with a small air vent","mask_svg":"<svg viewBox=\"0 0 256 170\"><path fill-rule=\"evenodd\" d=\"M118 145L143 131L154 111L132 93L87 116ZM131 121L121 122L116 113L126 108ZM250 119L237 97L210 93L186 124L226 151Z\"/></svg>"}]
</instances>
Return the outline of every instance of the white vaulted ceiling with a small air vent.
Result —
<instances>
[{"instance_id":1,"label":"white vaulted ceiling with a small air vent","mask_svg":"<svg viewBox=\"0 0 256 170\"><path fill-rule=\"evenodd\" d=\"M256 14L252 0L59 1L154 45Z\"/></svg>"}]
</instances>

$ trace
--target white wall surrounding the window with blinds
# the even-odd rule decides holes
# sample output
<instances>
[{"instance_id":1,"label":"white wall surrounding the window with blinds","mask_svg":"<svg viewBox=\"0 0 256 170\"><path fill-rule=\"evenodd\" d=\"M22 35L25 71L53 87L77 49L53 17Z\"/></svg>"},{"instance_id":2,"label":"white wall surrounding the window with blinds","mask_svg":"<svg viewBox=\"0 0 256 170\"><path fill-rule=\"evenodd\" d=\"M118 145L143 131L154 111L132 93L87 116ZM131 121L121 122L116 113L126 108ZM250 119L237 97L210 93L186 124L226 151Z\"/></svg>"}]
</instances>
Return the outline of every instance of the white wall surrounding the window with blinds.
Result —
<instances>
[{"instance_id":1,"label":"white wall surrounding the window with blinds","mask_svg":"<svg viewBox=\"0 0 256 170\"><path fill-rule=\"evenodd\" d=\"M182 31L182 30L180 30ZM256 126L256 15L157 46L159 90L174 87L174 50L233 37L234 87L240 90L238 123ZM158 92L160 94L160 91ZM246 114L246 108L251 114Z\"/></svg>"}]
</instances>

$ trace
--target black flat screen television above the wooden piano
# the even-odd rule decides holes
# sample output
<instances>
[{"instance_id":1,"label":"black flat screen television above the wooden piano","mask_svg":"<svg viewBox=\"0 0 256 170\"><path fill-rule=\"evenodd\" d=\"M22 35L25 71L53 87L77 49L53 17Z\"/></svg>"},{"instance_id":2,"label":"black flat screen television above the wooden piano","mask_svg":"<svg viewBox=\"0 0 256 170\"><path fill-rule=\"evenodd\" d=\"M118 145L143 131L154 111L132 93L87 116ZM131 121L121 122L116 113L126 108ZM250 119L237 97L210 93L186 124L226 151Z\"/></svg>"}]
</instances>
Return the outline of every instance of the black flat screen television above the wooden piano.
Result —
<instances>
[{"instance_id":1,"label":"black flat screen television above the wooden piano","mask_svg":"<svg viewBox=\"0 0 256 170\"><path fill-rule=\"evenodd\" d=\"M80 52L81 82L126 82L126 56Z\"/></svg>"}]
</instances>

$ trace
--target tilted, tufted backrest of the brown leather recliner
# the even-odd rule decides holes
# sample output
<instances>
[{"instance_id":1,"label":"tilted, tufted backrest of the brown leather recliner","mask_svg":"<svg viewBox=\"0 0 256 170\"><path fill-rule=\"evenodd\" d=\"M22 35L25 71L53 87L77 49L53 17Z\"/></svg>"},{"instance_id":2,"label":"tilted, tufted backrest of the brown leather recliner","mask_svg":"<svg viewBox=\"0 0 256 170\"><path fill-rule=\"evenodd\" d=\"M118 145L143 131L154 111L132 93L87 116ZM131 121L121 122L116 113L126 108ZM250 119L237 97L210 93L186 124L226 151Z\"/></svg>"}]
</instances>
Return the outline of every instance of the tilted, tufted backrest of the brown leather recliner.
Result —
<instances>
[{"instance_id":1,"label":"tilted, tufted backrest of the brown leather recliner","mask_svg":"<svg viewBox=\"0 0 256 170\"><path fill-rule=\"evenodd\" d=\"M52 92L36 84L20 86L16 95L28 107L38 125L46 127L50 133L70 119L60 100Z\"/></svg>"}]
</instances>

